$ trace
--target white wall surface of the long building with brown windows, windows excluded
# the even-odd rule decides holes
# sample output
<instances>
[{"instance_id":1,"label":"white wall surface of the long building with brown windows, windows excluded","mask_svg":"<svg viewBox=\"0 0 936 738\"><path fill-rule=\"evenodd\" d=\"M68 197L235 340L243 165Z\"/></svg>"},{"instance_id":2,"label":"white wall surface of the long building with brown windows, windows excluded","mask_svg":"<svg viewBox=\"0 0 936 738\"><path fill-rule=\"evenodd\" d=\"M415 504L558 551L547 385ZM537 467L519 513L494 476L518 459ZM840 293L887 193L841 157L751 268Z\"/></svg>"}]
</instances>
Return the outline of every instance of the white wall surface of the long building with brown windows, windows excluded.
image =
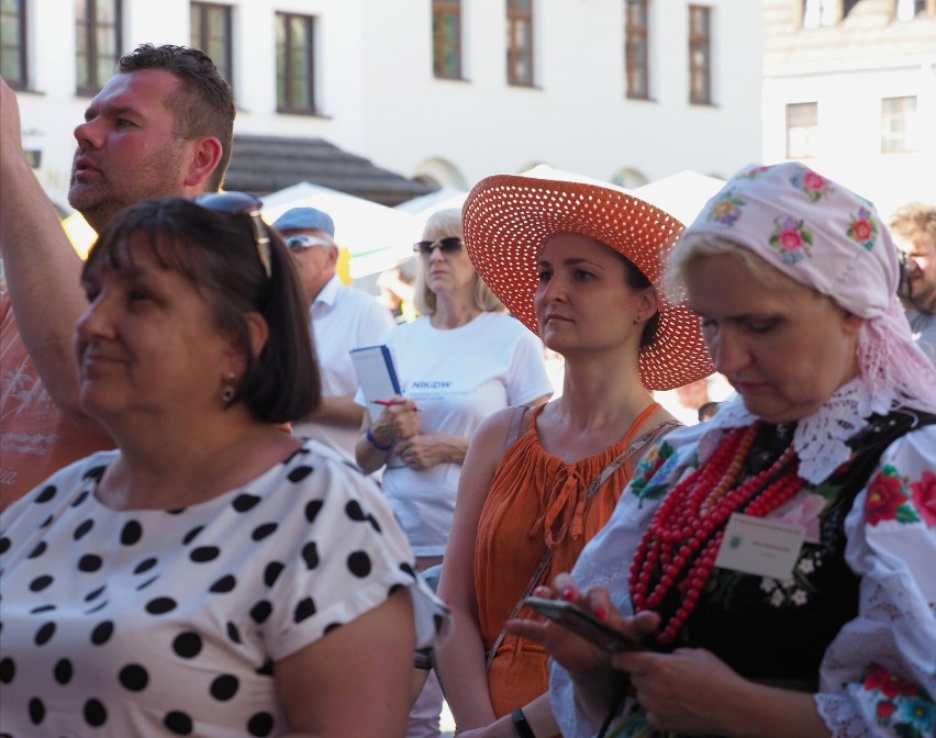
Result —
<instances>
[{"instance_id":1,"label":"white wall surface of the long building with brown windows, windows excluded","mask_svg":"<svg viewBox=\"0 0 936 738\"><path fill-rule=\"evenodd\" d=\"M215 0L218 1L218 0ZM24 144L62 206L87 99L74 97L71 0L31 4ZM726 176L760 158L760 3L714 9L713 107L688 104L689 0L650 3L653 101L624 97L623 0L535 0L536 87L506 85L501 0L465 0L465 81L432 75L428 0L230 0L236 133L324 137L405 176L466 187L538 163L602 180ZM124 51L187 44L188 0L124 0ZM276 113L274 12L317 16L321 115Z\"/></svg>"}]
</instances>

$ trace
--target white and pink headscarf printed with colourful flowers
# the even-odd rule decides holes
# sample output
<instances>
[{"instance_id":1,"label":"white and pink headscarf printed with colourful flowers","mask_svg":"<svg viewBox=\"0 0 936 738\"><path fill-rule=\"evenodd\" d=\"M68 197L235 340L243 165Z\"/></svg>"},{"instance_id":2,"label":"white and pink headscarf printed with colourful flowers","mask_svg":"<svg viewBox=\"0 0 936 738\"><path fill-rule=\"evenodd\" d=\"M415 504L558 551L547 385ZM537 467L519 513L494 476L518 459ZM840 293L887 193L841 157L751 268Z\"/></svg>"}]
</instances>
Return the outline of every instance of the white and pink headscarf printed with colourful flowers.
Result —
<instances>
[{"instance_id":1,"label":"white and pink headscarf printed with colourful flowers","mask_svg":"<svg viewBox=\"0 0 936 738\"><path fill-rule=\"evenodd\" d=\"M936 410L936 369L913 345L896 297L896 248L869 201L796 161L749 166L705 204L676 249L703 234L754 251L867 320L858 360L874 412L906 399Z\"/></svg>"}]
</instances>

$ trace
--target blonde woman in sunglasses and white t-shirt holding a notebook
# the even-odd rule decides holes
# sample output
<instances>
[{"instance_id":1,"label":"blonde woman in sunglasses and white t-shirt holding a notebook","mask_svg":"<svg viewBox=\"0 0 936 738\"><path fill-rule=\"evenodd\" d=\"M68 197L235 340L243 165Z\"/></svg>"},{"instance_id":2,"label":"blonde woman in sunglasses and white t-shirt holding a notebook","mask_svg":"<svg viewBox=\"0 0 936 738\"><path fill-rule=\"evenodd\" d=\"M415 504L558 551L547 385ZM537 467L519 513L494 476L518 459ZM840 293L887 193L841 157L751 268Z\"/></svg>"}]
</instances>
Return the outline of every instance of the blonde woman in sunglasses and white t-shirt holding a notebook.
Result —
<instances>
[{"instance_id":1,"label":"blonde woman in sunglasses and white t-shirt holding a notebook","mask_svg":"<svg viewBox=\"0 0 936 738\"><path fill-rule=\"evenodd\" d=\"M416 306L422 316L387 334L402 394L365 418L357 461L386 465L383 491L410 537L421 569L442 562L461 463L491 413L548 399L543 346L479 279L465 251L461 212L443 210L414 246ZM438 735L442 695L423 690L410 736ZM415 715L422 715L416 717Z\"/></svg>"}]
</instances>

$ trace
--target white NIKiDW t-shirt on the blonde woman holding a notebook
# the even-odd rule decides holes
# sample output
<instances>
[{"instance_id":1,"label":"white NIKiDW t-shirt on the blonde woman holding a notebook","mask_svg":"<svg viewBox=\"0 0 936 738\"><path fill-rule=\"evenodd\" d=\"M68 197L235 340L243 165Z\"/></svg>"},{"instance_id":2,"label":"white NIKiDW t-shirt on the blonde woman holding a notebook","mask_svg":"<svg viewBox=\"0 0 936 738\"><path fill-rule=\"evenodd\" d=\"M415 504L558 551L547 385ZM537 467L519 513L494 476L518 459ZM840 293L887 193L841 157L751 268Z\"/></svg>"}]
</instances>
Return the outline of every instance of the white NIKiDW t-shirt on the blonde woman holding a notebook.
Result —
<instances>
[{"instance_id":1,"label":"white NIKiDW t-shirt on the blonde woman holding a notebook","mask_svg":"<svg viewBox=\"0 0 936 738\"><path fill-rule=\"evenodd\" d=\"M391 331L403 394L420 409L420 427L470 438L488 415L551 393L543 344L505 313L481 313L457 328L420 317ZM363 401L363 398L360 398ZM413 470L391 451L383 491L416 556L442 556L452 527L460 463Z\"/></svg>"}]
</instances>

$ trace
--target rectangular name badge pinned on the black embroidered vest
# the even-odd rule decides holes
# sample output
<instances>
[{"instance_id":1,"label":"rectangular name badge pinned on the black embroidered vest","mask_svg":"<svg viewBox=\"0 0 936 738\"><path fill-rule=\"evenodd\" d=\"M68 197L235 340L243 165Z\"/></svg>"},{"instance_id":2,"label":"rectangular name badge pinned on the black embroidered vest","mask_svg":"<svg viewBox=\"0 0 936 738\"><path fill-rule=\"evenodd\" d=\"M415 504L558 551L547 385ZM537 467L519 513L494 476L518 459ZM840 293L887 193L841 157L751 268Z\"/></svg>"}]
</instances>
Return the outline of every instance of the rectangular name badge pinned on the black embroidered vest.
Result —
<instances>
[{"instance_id":1,"label":"rectangular name badge pinned on the black embroidered vest","mask_svg":"<svg viewBox=\"0 0 936 738\"><path fill-rule=\"evenodd\" d=\"M793 575L804 534L800 525L733 513L715 566L785 581Z\"/></svg>"}]
</instances>

